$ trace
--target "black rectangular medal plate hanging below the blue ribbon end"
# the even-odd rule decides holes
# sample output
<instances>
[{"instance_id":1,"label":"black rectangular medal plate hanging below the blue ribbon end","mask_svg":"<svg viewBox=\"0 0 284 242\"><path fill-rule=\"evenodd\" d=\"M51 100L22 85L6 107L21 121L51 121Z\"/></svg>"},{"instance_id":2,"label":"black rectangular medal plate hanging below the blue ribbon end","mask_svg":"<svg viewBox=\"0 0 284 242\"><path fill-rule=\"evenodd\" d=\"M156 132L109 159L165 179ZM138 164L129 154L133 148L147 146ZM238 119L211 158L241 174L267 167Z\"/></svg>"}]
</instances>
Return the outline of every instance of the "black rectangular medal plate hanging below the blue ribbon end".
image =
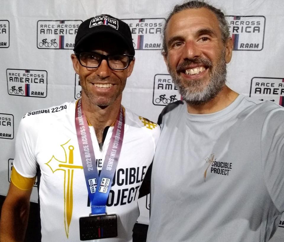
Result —
<instances>
[{"instance_id":1,"label":"black rectangular medal plate hanging below the blue ribbon end","mask_svg":"<svg viewBox=\"0 0 284 242\"><path fill-rule=\"evenodd\" d=\"M116 214L80 217L80 240L112 238L117 236Z\"/></svg>"}]
</instances>

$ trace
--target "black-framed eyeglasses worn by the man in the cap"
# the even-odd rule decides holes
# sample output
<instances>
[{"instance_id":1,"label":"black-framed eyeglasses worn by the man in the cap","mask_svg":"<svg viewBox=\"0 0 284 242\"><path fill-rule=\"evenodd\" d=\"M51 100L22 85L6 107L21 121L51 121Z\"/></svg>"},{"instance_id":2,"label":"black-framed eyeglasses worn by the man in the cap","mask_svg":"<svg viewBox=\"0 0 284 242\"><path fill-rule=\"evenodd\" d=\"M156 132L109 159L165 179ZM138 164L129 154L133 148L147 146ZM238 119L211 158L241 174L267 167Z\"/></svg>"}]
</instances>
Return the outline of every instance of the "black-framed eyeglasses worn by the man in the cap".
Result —
<instances>
[{"instance_id":1,"label":"black-framed eyeglasses worn by the man in the cap","mask_svg":"<svg viewBox=\"0 0 284 242\"><path fill-rule=\"evenodd\" d=\"M76 56L82 66L97 68L102 60L106 60L109 68L113 70L126 69L134 59L132 55L102 55L96 52L80 52L76 53Z\"/></svg>"}]
</instances>

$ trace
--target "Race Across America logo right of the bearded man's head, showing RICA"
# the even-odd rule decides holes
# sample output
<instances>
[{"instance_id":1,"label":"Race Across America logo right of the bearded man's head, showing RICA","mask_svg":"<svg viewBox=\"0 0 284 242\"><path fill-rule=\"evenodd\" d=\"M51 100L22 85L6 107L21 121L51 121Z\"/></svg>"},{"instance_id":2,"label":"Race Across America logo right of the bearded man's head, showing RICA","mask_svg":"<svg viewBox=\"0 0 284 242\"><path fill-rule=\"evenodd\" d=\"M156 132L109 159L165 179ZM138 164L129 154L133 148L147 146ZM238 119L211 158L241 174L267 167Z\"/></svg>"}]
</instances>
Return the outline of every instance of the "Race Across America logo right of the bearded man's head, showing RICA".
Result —
<instances>
[{"instance_id":1,"label":"Race Across America logo right of the bearded man's head, showing RICA","mask_svg":"<svg viewBox=\"0 0 284 242\"><path fill-rule=\"evenodd\" d=\"M226 16L234 51L261 51L264 43L264 16Z\"/></svg>"}]
</instances>

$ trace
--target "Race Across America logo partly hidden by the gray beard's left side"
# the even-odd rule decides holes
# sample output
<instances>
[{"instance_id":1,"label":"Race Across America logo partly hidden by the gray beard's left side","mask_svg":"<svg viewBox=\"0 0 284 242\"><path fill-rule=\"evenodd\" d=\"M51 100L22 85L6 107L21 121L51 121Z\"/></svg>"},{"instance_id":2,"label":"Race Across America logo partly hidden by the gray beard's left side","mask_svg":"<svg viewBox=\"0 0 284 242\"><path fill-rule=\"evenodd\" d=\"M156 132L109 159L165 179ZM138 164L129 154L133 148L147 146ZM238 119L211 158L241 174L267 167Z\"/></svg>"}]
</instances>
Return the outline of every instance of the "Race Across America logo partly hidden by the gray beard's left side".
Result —
<instances>
[{"instance_id":1,"label":"Race Across America logo partly hidden by the gray beard's left side","mask_svg":"<svg viewBox=\"0 0 284 242\"><path fill-rule=\"evenodd\" d=\"M156 74L154 77L153 104L166 106L181 100L181 95L172 81L170 74Z\"/></svg>"}]
</instances>

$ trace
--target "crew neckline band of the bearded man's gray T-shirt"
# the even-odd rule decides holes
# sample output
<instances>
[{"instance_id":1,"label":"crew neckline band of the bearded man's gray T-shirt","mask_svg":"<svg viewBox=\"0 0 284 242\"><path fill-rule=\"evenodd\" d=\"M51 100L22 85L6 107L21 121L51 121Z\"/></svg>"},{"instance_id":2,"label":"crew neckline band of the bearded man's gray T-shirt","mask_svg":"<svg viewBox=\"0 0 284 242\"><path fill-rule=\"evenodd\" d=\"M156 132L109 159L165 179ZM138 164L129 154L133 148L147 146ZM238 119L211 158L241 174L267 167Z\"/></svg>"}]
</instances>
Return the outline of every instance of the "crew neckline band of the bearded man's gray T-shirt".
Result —
<instances>
[{"instance_id":1,"label":"crew neckline band of the bearded man's gray T-shirt","mask_svg":"<svg viewBox=\"0 0 284 242\"><path fill-rule=\"evenodd\" d=\"M239 94L238 97L226 108L218 112L208 113L208 114L188 113L187 105L185 105L185 109L184 109L185 118L191 121L196 121L196 122L208 122L208 121L214 121L214 120L220 119L223 116L227 116L227 114L235 110L241 104L244 98L245 96L243 94Z\"/></svg>"}]
</instances>

